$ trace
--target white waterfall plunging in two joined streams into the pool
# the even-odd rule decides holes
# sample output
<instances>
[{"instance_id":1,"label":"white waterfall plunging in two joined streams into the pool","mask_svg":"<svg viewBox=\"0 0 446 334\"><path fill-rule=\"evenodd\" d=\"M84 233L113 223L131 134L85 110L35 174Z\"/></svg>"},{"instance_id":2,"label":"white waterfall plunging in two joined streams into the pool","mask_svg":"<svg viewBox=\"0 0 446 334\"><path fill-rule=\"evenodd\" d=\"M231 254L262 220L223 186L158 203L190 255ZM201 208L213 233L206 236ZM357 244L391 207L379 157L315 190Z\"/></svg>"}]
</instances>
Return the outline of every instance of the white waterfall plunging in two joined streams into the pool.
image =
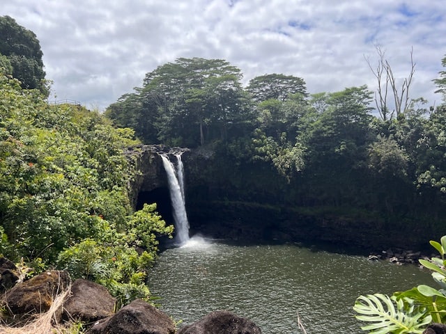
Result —
<instances>
[{"instance_id":1,"label":"white waterfall plunging in two joined streams into the pool","mask_svg":"<svg viewBox=\"0 0 446 334\"><path fill-rule=\"evenodd\" d=\"M190 239L189 222L187 221L184 197L183 161L181 161L181 154L175 154L177 159L177 170L175 170L174 164L169 160L169 157L164 154L160 155L169 182L170 198L176 230L175 240L177 244L182 245Z\"/></svg>"}]
</instances>

